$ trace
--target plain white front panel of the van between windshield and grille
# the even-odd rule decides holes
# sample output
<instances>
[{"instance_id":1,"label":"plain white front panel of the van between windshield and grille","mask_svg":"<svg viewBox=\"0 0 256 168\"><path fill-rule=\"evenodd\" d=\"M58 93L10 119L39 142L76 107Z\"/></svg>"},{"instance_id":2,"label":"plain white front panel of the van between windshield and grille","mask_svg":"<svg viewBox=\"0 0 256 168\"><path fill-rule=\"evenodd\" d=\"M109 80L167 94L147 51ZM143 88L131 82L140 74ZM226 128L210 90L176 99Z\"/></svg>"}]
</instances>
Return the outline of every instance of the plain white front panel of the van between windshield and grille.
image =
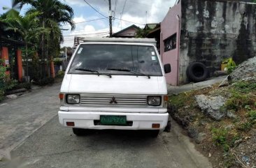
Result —
<instances>
[{"instance_id":1,"label":"plain white front panel of the van between windshield and grille","mask_svg":"<svg viewBox=\"0 0 256 168\"><path fill-rule=\"evenodd\" d=\"M163 77L129 75L71 75L66 74L61 92L68 93L112 93L112 94L167 94Z\"/></svg>"}]
</instances>

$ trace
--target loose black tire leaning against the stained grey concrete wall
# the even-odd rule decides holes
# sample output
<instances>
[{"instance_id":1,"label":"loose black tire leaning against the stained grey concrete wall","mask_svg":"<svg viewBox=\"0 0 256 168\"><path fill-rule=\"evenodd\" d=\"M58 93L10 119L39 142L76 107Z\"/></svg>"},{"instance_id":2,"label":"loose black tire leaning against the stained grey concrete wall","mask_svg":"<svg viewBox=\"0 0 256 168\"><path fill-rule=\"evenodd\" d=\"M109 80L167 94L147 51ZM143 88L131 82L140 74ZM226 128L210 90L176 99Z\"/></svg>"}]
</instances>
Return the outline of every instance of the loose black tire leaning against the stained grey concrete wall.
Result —
<instances>
[{"instance_id":1,"label":"loose black tire leaning against the stained grey concrete wall","mask_svg":"<svg viewBox=\"0 0 256 168\"><path fill-rule=\"evenodd\" d=\"M193 62L187 67L187 77L193 82L201 82L208 77L208 70L204 63Z\"/></svg>"}]
</instances>

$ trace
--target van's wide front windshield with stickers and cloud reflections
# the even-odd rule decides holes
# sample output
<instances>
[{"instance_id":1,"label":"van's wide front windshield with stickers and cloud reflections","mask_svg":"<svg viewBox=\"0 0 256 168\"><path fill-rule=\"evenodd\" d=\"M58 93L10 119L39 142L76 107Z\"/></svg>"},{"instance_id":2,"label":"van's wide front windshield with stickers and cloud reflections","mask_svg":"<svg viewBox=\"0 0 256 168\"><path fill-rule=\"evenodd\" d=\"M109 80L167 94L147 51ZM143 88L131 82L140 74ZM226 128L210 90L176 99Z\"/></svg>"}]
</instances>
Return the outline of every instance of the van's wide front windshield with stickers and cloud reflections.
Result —
<instances>
[{"instance_id":1,"label":"van's wide front windshield with stickers and cloud reflections","mask_svg":"<svg viewBox=\"0 0 256 168\"><path fill-rule=\"evenodd\" d=\"M92 71L111 75L162 76L155 48L145 45L80 45L69 73L92 74Z\"/></svg>"}]
</instances>

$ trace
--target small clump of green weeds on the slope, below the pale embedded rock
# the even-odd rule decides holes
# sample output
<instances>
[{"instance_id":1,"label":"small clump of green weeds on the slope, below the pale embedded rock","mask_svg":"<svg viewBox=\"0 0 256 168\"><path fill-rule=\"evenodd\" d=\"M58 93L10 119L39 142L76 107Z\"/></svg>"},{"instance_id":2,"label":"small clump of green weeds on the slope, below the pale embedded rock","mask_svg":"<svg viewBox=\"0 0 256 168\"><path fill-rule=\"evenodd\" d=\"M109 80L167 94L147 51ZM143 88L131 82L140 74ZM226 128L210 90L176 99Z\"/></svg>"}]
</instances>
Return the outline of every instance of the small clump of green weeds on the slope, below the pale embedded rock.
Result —
<instances>
[{"instance_id":1,"label":"small clump of green weeds on the slope, below the pale embedded rock","mask_svg":"<svg viewBox=\"0 0 256 168\"><path fill-rule=\"evenodd\" d=\"M224 151L229 151L230 146L227 142L227 130L221 128L213 128L211 132L213 134L213 142L217 146L222 146Z\"/></svg>"}]
</instances>

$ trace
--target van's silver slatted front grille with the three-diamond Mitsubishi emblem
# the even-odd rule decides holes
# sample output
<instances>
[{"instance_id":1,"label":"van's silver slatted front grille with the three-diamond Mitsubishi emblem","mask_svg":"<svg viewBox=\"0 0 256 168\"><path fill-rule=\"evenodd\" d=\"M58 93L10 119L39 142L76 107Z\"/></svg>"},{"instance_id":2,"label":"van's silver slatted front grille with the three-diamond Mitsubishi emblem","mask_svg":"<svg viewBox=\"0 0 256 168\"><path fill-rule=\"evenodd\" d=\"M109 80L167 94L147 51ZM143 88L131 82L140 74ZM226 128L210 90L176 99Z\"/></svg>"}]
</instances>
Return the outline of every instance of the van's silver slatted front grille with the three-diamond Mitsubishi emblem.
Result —
<instances>
[{"instance_id":1,"label":"van's silver slatted front grille with the three-diamond Mitsubishi emblem","mask_svg":"<svg viewBox=\"0 0 256 168\"><path fill-rule=\"evenodd\" d=\"M81 94L80 105L84 106L104 106L104 107L120 107L133 106L145 107L147 106L146 96L125 96L125 95L102 95L102 94Z\"/></svg>"}]
</instances>

